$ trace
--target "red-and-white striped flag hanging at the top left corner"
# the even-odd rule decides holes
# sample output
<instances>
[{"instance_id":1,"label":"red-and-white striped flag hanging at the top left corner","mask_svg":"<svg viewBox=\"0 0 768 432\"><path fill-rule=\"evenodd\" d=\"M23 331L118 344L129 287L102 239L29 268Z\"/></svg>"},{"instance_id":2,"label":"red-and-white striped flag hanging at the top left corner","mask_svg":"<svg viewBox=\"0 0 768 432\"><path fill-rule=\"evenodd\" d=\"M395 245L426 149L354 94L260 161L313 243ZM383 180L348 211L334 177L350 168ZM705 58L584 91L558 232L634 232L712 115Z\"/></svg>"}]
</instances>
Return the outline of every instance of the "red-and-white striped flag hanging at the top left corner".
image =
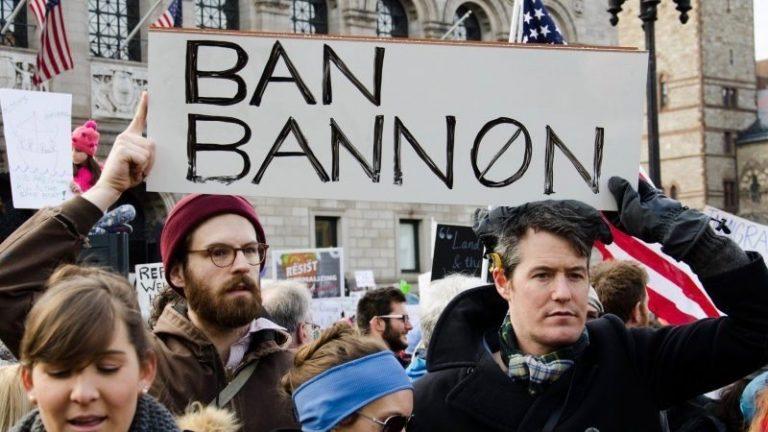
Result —
<instances>
[{"instance_id":1,"label":"red-and-white striped flag hanging at the top left corner","mask_svg":"<svg viewBox=\"0 0 768 432\"><path fill-rule=\"evenodd\" d=\"M32 77L40 85L54 76L72 69L72 51L64 28L64 11L61 0L30 0L29 8L37 18L40 28L40 50L37 52L37 69Z\"/></svg>"}]
</instances>

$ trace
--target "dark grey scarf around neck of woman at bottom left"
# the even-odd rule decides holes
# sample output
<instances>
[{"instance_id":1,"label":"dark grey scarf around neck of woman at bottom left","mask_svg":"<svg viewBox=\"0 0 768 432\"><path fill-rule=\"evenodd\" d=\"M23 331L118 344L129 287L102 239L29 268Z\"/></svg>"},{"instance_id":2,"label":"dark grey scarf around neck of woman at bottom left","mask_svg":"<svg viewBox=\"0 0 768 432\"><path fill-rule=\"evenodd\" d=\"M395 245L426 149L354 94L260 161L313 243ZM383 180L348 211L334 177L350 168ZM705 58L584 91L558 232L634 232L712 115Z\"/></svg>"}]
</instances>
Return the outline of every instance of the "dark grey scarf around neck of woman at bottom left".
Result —
<instances>
[{"instance_id":1,"label":"dark grey scarf around neck of woman at bottom left","mask_svg":"<svg viewBox=\"0 0 768 432\"><path fill-rule=\"evenodd\" d=\"M40 411L30 411L11 432L46 432ZM152 396L141 395L128 432L179 432L173 415Z\"/></svg>"}]
</instances>

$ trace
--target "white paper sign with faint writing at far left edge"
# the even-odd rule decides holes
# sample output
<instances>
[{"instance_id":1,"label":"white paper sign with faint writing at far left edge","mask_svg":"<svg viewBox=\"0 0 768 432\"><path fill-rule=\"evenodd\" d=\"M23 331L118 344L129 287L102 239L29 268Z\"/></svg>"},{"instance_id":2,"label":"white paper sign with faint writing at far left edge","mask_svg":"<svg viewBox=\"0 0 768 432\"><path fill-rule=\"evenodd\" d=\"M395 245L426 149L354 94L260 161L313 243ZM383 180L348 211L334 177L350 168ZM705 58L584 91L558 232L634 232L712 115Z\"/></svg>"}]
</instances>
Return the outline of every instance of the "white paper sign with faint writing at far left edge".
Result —
<instances>
[{"instance_id":1,"label":"white paper sign with faint writing at far left edge","mask_svg":"<svg viewBox=\"0 0 768 432\"><path fill-rule=\"evenodd\" d=\"M41 208L71 196L72 95L0 90L13 206Z\"/></svg>"}]
</instances>

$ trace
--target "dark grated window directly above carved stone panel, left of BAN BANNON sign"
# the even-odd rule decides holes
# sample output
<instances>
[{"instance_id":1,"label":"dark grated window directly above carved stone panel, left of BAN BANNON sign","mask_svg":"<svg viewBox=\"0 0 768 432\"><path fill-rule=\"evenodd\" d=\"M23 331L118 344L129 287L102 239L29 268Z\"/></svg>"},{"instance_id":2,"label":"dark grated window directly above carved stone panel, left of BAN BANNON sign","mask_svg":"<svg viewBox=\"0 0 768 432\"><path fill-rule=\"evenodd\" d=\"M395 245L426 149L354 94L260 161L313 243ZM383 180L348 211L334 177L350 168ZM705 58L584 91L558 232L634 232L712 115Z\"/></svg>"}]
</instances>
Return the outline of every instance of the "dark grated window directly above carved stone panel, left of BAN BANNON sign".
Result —
<instances>
[{"instance_id":1,"label":"dark grated window directly above carved stone panel, left of BAN BANNON sign","mask_svg":"<svg viewBox=\"0 0 768 432\"><path fill-rule=\"evenodd\" d=\"M141 60L139 38L128 46L124 40L138 24L138 0L88 0L88 35L91 55L121 60Z\"/></svg>"}]
</instances>

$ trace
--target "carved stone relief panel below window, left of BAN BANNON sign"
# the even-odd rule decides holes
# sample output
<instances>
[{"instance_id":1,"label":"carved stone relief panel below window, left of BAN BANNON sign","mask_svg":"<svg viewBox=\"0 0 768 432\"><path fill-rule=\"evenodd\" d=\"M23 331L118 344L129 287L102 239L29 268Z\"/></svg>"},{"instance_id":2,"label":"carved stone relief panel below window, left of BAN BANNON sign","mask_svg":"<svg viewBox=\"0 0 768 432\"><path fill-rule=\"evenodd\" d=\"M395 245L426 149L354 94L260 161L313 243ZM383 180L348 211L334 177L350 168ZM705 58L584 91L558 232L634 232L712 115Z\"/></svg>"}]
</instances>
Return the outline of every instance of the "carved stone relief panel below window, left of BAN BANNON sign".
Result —
<instances>
[{"instance_id":1,"label":"carved stone relief panel below window, left of BAN BANNON sign","mask_svg":"<svg viewBox=\"0 0 768 432\"><path fill-rule=\"evenodd\" d=\"M147 88L147 68L91 62L91 115L131 119L141 91Z\"/></svg>"}]
</instances>

